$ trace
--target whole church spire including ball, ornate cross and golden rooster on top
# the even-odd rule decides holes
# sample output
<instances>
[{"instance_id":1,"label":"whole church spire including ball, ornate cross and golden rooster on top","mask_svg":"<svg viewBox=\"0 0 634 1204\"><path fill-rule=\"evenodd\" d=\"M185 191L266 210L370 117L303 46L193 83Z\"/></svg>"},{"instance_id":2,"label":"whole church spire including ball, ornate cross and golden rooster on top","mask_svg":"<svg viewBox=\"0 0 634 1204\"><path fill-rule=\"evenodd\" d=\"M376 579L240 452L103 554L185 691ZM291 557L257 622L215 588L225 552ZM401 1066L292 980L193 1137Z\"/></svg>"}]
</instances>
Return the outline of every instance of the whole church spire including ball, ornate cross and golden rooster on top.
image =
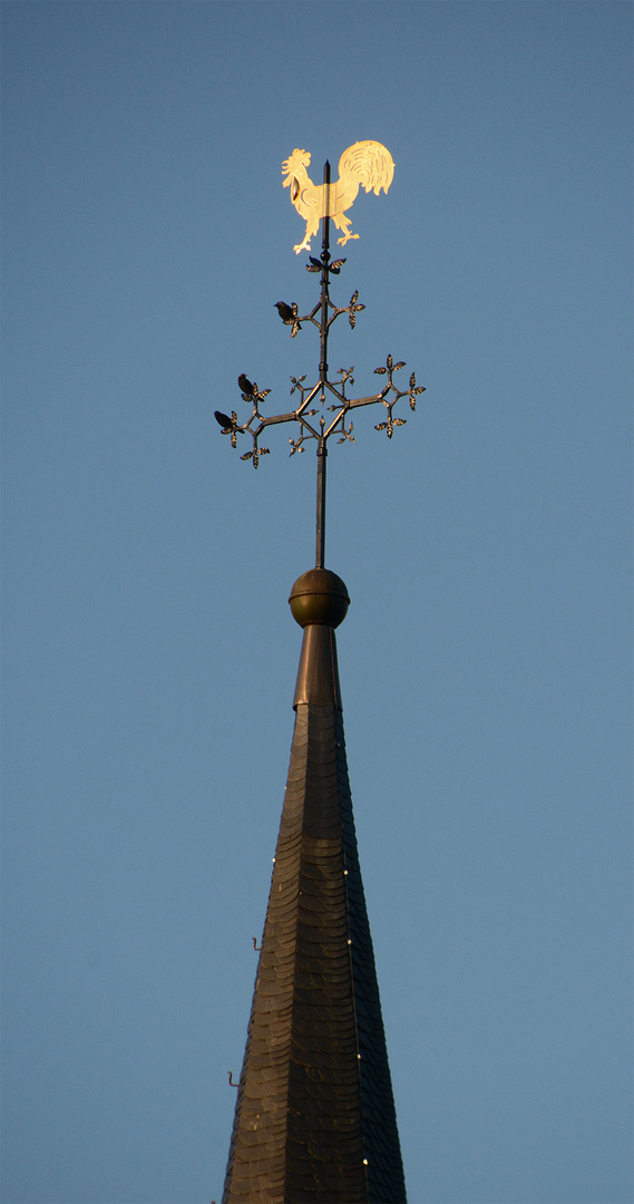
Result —
<instances>
[{"instance_id":1,"label":"whole church spire including ball, ornate cross and golden rooster on top","mask_svg":"<svg viewBox=\"0 0 634 1204\"><path fill-rule=\"evenodd\" d=\"M350 412L381 405L377 424L392 438L405 419L395 417L402 397L411 411L423 393L414 373L399 390L393 373L403 362L387 356L375 368L386 377L380 393L352 400L354 368L328 378L327 346L333 321L346 314L354 329L365 306L354 293L337 307L330 297L331 275L339 276L344 259L330 254L330 219L350 234L350 207L360 183L378 194L391 183L393 163L380 143L357 142L339 161L340 179L331 185L330 165L324 185L307 175L310 155L295 150L284 170L294 205L307 219L304 242L322 219L320 259L310 256L309 272L321 273L318 303L300 315L297 305L277 308L291 338L302 325L318 327L319 378L291 377L298 405L285 414L263 415L269 390L260 390L242 373L238 385L251 406L245 423L217 411L231 445L250 436L253 445L241 459L257 468L268 455L263 431L282 423L300 427L290 439L291 455L316 441L315 567L295 583L289 598L303 628L294 708L295 732L271 892L266 913L247 1047L238 1086L236 1115L223 1196L224 1204L404 1204L405 1185L392 1097L379 987L348 780L342 697L334 631L343 622L348 590L325 568L326 456L332 435L354 443ZM345 184L345 187L344 187ZM326 406L326 401L330 402ZM315 408L309 408L315 406ZM319 417L316 417L319 415ZM315 420L316 417L316 420ZM348 425L346 425L348 424Z\"/></svg>"}]
</instances>

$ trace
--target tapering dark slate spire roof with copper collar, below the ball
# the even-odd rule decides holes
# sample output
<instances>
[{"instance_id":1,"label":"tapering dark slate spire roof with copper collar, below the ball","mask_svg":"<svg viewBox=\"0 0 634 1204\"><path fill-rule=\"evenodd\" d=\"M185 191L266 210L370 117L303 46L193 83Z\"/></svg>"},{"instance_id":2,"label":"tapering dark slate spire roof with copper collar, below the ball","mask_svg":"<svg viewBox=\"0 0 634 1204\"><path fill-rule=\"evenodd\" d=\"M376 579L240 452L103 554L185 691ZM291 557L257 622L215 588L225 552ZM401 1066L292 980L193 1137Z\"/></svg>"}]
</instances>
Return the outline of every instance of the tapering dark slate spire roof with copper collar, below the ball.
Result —
<instances>
[{"instance_id":1,"label":"tapering dark slate spire roof with copper collar, below the ball","mask_svg":"<svg viewBox=\"0 0 634 1204\"><path fill-rule=\"evenodd\" d=\"M223 1200L403 1204L332 627L304 630L295 708Z\"/></svg>"}]
</instances>

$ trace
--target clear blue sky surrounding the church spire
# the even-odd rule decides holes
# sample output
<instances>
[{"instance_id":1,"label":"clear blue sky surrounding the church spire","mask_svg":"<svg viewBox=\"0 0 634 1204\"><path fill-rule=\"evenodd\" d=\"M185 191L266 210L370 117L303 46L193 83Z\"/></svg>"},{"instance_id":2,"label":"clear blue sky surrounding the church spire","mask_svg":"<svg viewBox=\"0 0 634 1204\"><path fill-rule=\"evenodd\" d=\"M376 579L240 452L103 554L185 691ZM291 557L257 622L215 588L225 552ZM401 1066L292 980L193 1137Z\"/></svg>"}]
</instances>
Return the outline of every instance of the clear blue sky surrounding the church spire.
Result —
<instances>
[{"instance_id":1,"label":"clear blue sky surrounding the church spire","mask_svg":"<svg viewBox=\"0 0 634 1204\"><path fill-rule=\"evenodd\" d=\"M409 1200L632 1200L630 81L609 0L4 5L5 1204L220 1199L315 461L213 411L314 379L282 160L363 138L331 365L427 391L326 563Z\"/></svg>"}]
</instances>

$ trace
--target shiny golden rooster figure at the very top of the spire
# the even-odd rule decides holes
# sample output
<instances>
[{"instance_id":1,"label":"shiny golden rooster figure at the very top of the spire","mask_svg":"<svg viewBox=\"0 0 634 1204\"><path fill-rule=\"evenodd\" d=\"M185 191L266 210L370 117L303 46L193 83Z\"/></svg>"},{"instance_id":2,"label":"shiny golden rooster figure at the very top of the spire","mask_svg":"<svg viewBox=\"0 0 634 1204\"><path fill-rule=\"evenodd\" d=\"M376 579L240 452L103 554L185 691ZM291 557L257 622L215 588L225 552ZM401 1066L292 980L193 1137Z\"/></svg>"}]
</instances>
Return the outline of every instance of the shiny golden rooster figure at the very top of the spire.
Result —
<instances>
[{"instance_id":1,"label":"shiny golden rooster figure at the very top of the spire","mask_svg":"<svg viewBox=\"0 0 634 1204\"><path fill-rule=\"evenodd\" d=\"M290 189L291 201L306 220L304 241L292 248L297 254L310 250L310 238L316 235L325 217L332 218L342 231L343 237L337 242L343 247L349 238L359 238L357 234L350 234L351 222L345 217L345 209L355 201L361 185L375 196L381 188L386 193L395 173L392 157L380 142L355 142L348 147L339 159L339 178L331 184L314 184L307 171L309 164L309 152L297 148L282 164L284 188Z\"/></svg>"}]
</instances>

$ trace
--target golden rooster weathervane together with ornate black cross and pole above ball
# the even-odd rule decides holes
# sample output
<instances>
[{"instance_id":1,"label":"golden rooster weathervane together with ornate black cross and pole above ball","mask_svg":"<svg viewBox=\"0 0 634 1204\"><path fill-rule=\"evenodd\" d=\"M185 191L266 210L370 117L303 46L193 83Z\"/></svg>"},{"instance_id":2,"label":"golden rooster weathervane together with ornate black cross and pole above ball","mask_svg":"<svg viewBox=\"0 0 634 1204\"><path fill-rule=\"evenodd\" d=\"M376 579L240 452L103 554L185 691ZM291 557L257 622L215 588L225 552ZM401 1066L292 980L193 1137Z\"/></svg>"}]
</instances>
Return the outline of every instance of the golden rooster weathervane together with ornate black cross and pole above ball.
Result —
<instances>
[{"instance_id":1,"label":"golden rooster weathervane together with ornate black cross and pole above ball","mask_svg":"<svg viewBox=\"0 0 634 1204\"><path fill-rule=\"evenodd\" d=\"M366 307L359 305L359 290L352 293L350 303L336 306L330 297L330 278L339 276L345 259L331 259L330 254L330 220L334 222L338 230L343 231L343 237L338 241L345 246L350 238L359 238L357 234L350 234L350 218L345 217L345 209L350 208L361 185L369 193L371 189L378 195L383 188L385 191L392 182L395 165L390 152L380 142L355 142L354 146L344 150L339 160L339 179L337 183L330 182L330 163L324 167L324 183L319 187L313 184L307 173L310 155L306 150L294 150L289 159L285 159L282 170L286 176L284 187L291 190L291 201L298 213L306 218L306 237L294 250L310 250L310 238L318 232L319 223L324 223L324 237L321 243L321 255L315 259L309 255L306 265L308 272L321 272L321 291L319 301L307 314L300 314L297 303L288 305L278 301L275 308L285 326L291 327L291 338L302 330L302 324L312 324L319 330L320 337L320 362L319 377L314 385L304 384L306 376L291 376L291 396L298 394L300 401L296 408L286 414L262 414L260 406L266 401L269 389L260 389L257 384L241 372L238 377L238 389L242 400L251 406L251 413L245 423L238 421L235 409L231 414L225 414L217 409L214 417L223 429L223 435L230 436L231 447L238 444L238 435L250 435L253 448L241 455L241 460L251 461L257 468L260 458L268 455L268 448L260 445L260 436L268 426L278 426L282 423L297 423L300 426L298 437L289 439L290 455L303 452L303 444L309 439L316 441L318 455L318 496L316 496L316 554L315 567L324 567L326 545L326 456L328 454L327 443L331 435L338 435L338 443L354 443L354 423L349 420L350 411L361 406L383 405L386 414L383 423L377 423L377 431L385 431L391 439L397 426L404 426L405 419L393 414L395 406L401 397L409 399L411 411L416 408L416 396L425 393L422 385L416 384L414 372L409 378L407 389L399 389L393 382L393 373L404 368L404 361L395 364L391 355L381 365L374 368L375 374L386 376L387 383L380 393L365 397L346 397L346 389L354 384L354 367L339 368L336 380L328 379L328 334L333 321L342 314L348 314L350 327L356 325L356 315ZM331 405L326 407L326 401ZM318 408L309 408L314 405ZM319 417L316 417L319 415ZM327 415L327 417L326 417Z\"/></svg>"}]
</instances>

